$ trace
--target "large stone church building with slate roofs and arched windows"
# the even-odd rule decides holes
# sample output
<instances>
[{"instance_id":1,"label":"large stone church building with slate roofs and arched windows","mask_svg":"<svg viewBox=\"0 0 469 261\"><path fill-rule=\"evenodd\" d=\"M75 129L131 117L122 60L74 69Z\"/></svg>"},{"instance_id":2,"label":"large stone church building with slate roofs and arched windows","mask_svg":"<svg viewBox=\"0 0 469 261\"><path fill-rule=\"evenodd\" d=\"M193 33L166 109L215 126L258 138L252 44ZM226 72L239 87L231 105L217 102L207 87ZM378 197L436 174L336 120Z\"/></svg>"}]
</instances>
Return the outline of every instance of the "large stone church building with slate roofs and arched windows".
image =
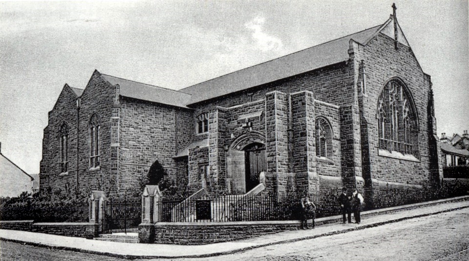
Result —
<instances>
[{"instance_id":1,"label":"large stone church building with slate roofs and arched windows","mask_svg":"<svg viewBox=\"0 0 469 261\"><path fill-rule=\"evenodd\" d=\"M85 89L65 84L48 117L41 188L67 193L122 194L155 160L188 195L443 178L430 76L395 14L178 91L95 71Z\"/></svg>"}]
</instances>

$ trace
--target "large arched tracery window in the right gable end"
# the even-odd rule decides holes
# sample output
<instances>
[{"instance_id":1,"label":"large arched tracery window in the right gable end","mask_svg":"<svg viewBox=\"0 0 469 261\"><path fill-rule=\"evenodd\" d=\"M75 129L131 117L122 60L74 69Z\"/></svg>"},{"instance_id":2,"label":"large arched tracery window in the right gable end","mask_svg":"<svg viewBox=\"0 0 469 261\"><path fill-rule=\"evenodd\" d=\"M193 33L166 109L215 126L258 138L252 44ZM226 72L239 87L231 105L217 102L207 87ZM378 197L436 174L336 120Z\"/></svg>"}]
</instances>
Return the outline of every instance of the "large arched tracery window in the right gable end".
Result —
<instances>
[{"instance_id":1,"label":"large arched tracery window in the right gable end","mask_svg":"<svg viewBox=\"0 0 469 261\"><path fill-rule=\"evenodd\" d=\"M417 115L405 85L390 80L378 100L379 148L418 157Z\"/></svg>"}]
</instances>

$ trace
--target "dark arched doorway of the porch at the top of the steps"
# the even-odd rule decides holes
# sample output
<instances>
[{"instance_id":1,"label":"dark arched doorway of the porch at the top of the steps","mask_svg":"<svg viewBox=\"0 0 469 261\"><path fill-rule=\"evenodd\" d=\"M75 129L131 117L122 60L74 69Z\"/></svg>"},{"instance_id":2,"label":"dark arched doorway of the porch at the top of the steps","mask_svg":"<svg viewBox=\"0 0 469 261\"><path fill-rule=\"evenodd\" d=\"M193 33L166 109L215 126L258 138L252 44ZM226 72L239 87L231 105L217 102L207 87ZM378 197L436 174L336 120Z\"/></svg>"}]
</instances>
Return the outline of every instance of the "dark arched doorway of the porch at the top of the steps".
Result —
<instances>
[{"instance_id":1,"label":"dark arched doorway of the porch at the top of the steps","mask_svg":"<svg viewBox=\"0 0 469 261\"><path fill-rule=\"evenodd\" d=\"M251 143L244 147L246 192L259 184L259 175L266 171L265 146L262 143Z\"/></svg>"}]
</instances>

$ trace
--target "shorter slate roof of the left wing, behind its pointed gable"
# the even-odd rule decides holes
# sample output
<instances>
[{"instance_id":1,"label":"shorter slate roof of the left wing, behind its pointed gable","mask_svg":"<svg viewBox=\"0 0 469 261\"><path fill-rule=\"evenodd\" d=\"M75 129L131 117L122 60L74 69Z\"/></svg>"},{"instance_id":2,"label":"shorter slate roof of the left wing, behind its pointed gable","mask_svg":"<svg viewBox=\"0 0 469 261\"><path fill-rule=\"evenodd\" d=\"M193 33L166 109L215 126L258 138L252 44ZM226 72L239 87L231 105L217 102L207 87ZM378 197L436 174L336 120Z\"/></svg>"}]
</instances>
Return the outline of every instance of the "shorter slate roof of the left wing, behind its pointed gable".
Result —
<instances>
[{"instance_id":1,"label":"shorter slate roof of the left wing, behind its pointed gable","mask_svg":"<svg viewBox=\"0 0 469 261\"><path fill-rule=\"evenodd\" d=\"M187 108L186 104L189 103L189 100L191 98L190 94L183 93L180 91L140 83L132 80L125 80L106 74L101 74L101 77L103 77L104 80L107 80L113 86L119 84L120 95L124 97L139 100L148 100L152 102L158 102L183 108Z\"/></svg>"}]
</instances>

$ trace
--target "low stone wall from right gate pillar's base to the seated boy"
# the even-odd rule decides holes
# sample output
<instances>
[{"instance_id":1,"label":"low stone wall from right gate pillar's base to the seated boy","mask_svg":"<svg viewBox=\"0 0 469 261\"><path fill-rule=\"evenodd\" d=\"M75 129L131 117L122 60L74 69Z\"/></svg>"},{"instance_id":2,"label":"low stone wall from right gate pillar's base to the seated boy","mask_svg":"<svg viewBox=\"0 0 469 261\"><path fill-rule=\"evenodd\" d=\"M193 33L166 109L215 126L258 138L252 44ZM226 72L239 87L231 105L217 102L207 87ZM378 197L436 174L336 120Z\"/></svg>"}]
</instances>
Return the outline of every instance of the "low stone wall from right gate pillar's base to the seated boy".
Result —
<instances>
[{"instance_id":1,"label":"low stone wall from right gate pillar's base to the seated boy","mask_svg":"<svg viewBox=\"0 0 469 261\"><path fill-rule=\"evenodd\" d=\"M139 242L210 244L242 240L299 228L299 221L159 222L139 225Z\"/></svg>"}]
</instances>

